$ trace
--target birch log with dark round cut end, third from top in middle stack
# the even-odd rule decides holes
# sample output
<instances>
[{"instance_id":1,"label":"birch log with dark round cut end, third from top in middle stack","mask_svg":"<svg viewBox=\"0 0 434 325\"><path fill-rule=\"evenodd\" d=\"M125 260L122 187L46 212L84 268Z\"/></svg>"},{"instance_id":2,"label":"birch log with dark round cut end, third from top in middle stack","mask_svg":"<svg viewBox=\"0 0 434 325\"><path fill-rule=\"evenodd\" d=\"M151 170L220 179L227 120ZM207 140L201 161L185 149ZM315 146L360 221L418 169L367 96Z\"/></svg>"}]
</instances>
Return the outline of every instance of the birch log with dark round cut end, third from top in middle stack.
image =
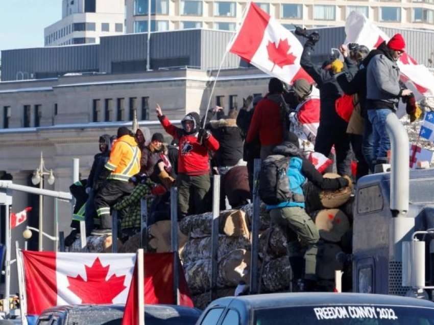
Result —
<instances>
[{"instance_id":1,"label":"birch log with dark round cut end, third from top in middle stack","mask_svg":"<svg viewBox=\"0 0 434 325\"><path fill-rule=\"evenodd\" d=\"M241 280L249 280L250 251L235 249L229 252L218 264L218 288L236 286ZM184 264L185 279L192 294L210 290L211 260L197 260Z\"/></svg>"}]
</instances>

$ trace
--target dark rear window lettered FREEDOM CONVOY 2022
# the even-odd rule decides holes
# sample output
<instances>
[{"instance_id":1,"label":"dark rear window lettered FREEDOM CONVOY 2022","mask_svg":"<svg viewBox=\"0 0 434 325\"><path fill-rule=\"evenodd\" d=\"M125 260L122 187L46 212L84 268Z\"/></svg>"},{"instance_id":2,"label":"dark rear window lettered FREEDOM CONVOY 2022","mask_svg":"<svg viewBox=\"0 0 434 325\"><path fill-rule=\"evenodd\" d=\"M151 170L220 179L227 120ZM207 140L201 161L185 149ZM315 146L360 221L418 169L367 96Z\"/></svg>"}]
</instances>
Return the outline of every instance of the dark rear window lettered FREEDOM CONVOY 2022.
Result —
<instances>
[{"instance_id":1,"label":"dark rear window lettered FREEDOM CONVOY 2022","mask_svg":"<svg viewBox=\"0 0 434 325\"><path fill-rule=\"evenodd\" d=\"M282 307L253 311L255 325L434 325L434 309L377 305Z\"/></svg>"}]
</instances>

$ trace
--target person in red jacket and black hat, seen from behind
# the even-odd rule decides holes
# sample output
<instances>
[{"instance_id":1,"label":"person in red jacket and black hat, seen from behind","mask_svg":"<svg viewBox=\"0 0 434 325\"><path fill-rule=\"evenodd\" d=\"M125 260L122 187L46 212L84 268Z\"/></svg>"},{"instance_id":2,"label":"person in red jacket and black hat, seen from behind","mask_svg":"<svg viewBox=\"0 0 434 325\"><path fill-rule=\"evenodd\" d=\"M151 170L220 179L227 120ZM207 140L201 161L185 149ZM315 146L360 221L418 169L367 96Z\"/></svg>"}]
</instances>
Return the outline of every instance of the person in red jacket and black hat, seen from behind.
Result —
<instances>
[{"instance_id":1,"label":"person in red jacket and black hat, seen from behind","mask_svg":"<svg viewBox=\"0 0 434 325\"><path fill-rule=\"evenodd\" d=\"M269 93L256 105L246 137L246 142L251 143L259 136L262 160L272 154L275 146L282 143L284 131L283 83L277 78L271 78L268 90Z\"/></svg>"}]
</instances>

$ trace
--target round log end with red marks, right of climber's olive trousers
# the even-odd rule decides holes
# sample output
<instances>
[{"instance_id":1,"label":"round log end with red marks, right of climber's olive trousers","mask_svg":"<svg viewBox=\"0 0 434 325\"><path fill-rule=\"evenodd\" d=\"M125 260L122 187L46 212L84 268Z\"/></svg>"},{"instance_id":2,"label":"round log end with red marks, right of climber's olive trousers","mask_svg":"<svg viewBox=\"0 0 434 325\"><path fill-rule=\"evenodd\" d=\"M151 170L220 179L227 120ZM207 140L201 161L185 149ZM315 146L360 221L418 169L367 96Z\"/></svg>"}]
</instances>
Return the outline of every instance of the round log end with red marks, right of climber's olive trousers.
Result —
<instances>
[{"instance_id":1,"label":"round log end with red marks, right of climber's olive trousers","mask_svg":"<svg viewBox=\"0 0 434 325\"><path fill-rule=\"evenodd\" d=\"M350 228L347 216L339 209L318 211L314 217L320 237L326 241L337 243Z\"/></svg>"}]
</instances>

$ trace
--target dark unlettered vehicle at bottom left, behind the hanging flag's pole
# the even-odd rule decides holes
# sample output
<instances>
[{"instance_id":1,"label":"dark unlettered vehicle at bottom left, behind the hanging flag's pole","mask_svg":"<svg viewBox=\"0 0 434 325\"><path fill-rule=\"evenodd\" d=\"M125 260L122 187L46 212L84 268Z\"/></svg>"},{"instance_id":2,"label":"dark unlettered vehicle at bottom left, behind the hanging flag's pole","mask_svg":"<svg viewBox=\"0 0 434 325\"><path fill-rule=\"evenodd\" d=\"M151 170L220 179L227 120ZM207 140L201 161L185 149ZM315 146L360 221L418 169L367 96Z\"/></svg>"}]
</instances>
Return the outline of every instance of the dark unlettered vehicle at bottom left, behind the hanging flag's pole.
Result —
<instances>
[{"instance_id":1,"label":"dark unlettered vehicle at bottom left, behind the hanging flag's pole","mask_svg":"<svg viewBox=\"0 0 434 325\"><path fill-rule=\"evenodd\" d=\"M68 305L45 310L37 325L120 325L125 305ZM146 305L146 325L193 325L201 315L196 308Z\"/></svg>"}]
</instances>

